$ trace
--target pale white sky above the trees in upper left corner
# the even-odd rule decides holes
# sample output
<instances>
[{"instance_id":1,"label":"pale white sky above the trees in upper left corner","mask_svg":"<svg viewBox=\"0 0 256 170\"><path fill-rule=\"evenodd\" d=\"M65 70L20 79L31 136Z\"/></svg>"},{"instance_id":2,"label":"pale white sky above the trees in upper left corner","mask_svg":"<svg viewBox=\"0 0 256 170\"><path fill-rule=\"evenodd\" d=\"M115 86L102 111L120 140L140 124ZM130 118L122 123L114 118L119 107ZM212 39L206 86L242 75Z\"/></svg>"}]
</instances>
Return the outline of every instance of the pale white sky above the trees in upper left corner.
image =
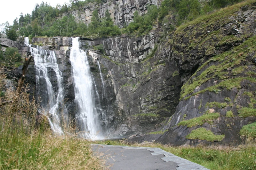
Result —
<instances>
[{"instance_id":1,"label":"pale white sky above the trees in upper left corner","mask_svg":"<svg viewBox=\"0 0 256 170\"><path fill-rule=\"evenodd\" d=\"M15 18L20 18L20 13L23 15L34 10L36 4L41 4L43 0L1 0L0 2L0 25L9 22L10 25L13 24ZM44 3L50 4L55 7L57 4L68 3L69 0L44 0Z\"/></svg>"}]
</instances>

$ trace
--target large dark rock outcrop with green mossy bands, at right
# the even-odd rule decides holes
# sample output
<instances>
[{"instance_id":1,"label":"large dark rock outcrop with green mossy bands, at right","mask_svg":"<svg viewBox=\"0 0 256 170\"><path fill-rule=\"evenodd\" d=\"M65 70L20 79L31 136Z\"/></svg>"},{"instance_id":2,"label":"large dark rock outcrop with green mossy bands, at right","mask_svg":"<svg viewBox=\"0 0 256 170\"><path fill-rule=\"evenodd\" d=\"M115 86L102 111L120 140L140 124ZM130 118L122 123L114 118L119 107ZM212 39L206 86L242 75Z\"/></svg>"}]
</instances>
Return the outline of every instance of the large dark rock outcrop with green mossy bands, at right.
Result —
<instances>
[{"instance_id":1,"label":"large dark rock outcrop with green mossy bands, at right","mask_svg":"<svg viewBox=\"0 0 256 170\"><path fill-rule=\"evenodd\" d=\"M169 131L157 142L212 144L189 138L188 134L201 127L213 135L224 134L222 144L242 142L240 129L256 120L255 116L243 115L244 110L255 107L255 36L249 38L256 35L255 6L243 6L235 15L218 20L209 16L205 22L176 30L171 58L176 60L184 86L180 103L166 127ZM200 122L200 118L212 113L217 118ZM192 124L188 122L191 119Z\"/></svg>"}]
</instances>

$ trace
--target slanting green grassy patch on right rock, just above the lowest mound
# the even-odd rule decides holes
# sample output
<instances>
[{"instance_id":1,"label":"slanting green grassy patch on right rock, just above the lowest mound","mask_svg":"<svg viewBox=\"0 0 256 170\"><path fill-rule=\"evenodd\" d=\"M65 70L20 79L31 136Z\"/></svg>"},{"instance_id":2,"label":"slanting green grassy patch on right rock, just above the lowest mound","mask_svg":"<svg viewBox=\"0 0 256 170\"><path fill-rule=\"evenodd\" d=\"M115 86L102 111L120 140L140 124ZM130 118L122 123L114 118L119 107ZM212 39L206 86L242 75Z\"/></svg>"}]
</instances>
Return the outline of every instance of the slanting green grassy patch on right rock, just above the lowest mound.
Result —
<instances>
[{"instance_id":1,"label":"slanting green grassy patch on right rock, just above the lowest mound","mask_svg":"<svg viewBox=\"0 0 256 170\"><path fill-rule=\"evenodd\" d=\"M183 120L178 123L178 126L183 125L187 127L203 125L205 122L212 124L212 120L217 119L220 116L220 113L207 113L200 117L195 117L189 120Z\"/></svg>"}]
</instances>

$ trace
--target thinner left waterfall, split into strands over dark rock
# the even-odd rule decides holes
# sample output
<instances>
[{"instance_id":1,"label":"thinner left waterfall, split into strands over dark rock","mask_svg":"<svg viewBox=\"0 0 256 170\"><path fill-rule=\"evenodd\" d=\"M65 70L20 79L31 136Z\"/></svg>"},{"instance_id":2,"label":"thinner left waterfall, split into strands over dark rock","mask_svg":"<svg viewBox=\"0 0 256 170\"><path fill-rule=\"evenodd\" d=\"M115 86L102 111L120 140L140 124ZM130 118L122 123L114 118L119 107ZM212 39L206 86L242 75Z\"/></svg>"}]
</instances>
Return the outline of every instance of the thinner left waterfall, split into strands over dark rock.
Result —
<instances>
[{"instance_id":1,"label":"thinner left waterfall, split into strands over dark rock","mask_svg":"<svg viewBox=\"0 0 256 170\"><path fill-rule=\"evenodd\" d=\"M48 101L42 99L46 101L46 103L43 103L43 108L39 110L39 112L48 118L52 131L57 135L61 135L63 131L60 125L60 115L65 115L65 110L62 105L64 99L62 87L63 79L55 53L54 51L41 49L39 46L37 46L37 48L30 46L30 52L34 56L35 61L36 88L38 95L48 96ZM50 81L51 78L56 79L57 83L54 86Z\"/></svg>"}]
</instances>

